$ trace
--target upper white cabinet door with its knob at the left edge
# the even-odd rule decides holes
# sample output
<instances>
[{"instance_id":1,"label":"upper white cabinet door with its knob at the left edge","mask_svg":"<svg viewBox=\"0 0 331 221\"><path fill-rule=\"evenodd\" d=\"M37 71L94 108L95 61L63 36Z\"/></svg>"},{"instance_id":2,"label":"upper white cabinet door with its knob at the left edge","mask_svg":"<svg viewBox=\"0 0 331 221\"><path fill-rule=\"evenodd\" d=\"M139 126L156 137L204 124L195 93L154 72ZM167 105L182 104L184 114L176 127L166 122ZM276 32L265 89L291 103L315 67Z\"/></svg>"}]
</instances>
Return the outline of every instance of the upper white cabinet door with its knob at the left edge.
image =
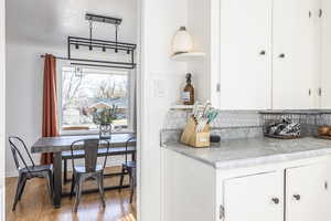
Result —
<instances>
[{"instance_id":1,"label":"upper white cabinet door with its knob at the left edge","mask_svg":"<svg viewBox=\"0 0 331 221\"><path fill-rule=\"evenodd\" d=\"M319 0L275 0L273 108L312 108L320 70Z\"/></svg>"}]
</instances>

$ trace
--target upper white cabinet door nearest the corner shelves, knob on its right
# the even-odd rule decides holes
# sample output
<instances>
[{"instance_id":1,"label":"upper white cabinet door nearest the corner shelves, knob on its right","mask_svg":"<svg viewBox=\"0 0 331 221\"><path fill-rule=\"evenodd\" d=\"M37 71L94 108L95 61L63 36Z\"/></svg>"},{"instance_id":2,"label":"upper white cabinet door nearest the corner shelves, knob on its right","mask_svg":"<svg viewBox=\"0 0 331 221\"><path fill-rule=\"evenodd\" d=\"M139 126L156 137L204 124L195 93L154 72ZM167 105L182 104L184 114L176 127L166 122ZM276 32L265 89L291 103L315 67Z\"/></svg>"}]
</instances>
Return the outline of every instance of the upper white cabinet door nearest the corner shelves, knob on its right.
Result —
<instances>
[{"instance_id":1,"label":"upper white cabinet door nearest the corner shelves, knob on its right","mask_svg":"<svg viewBox=\"0 0 331 221\"><path fill-rule=\"evenodd\" d=\"M271 107L271 0L221 1L221 108Z\"/></svg>"}]
</instances>

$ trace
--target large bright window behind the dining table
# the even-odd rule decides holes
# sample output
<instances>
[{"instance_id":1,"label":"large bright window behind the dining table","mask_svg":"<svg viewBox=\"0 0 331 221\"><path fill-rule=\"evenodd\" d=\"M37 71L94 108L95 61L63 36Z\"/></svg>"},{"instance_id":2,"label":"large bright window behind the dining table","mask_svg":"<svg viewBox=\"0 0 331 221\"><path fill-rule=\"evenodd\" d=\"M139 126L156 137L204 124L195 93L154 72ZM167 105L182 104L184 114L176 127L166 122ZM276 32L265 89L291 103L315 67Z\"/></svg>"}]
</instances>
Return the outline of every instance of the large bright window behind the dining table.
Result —
<instances>
[{"instance_id":1,"label":"large bright window behind the dining table","mask_svg":"<svg viewBox=\"0 0 331 221\"><path fill-rule=\"evenodd\" d=\"M97 131L93 114L117 107L115 130L131 130L130 75L126 71L64 66L61 70L60 123L62 134Z\"/></svg>"}]
</instances>

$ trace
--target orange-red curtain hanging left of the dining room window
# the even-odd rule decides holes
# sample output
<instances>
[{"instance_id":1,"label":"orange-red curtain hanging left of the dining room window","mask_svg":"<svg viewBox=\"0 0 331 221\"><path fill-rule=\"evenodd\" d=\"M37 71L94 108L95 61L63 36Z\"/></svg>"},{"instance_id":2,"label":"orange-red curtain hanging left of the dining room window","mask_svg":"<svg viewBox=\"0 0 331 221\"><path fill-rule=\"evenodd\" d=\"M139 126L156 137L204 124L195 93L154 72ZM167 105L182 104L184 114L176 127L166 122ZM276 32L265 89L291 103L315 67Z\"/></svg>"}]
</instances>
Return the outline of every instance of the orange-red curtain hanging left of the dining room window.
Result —
<instances>
[{"instance_id":1,"label":"orange-red curtain hanging left of the dining room window","mask_svg":"<svg viewBox=\"0 0 331 221\"><path fill-rule=\"evenodd\" d=\"M56 59L45 55L43 90L43 137L55 137L57 133ZM53 154L42 154L41 164L53 162Z\"/></svg>"}]
</instances>

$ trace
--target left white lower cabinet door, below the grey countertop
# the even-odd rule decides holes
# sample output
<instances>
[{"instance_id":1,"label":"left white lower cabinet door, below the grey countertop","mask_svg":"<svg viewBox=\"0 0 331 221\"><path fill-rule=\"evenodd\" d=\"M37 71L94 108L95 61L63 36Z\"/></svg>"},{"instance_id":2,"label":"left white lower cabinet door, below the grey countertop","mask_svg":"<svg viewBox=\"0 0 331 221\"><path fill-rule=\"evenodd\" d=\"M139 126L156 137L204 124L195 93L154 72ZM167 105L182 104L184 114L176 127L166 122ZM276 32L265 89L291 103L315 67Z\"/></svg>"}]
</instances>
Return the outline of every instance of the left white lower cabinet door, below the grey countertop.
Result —
<instances>
[{"instance_id":1,"label":"left white lower cabinet door, below the grey countertop","mask_svg":"<svg viewBox=\"0 0 331 221\"><path fill-rule=\"evenodd\" d=\"M284 172L270 172L224 182L225 221L281 221Z\"/></svg>"}]
</instances>

